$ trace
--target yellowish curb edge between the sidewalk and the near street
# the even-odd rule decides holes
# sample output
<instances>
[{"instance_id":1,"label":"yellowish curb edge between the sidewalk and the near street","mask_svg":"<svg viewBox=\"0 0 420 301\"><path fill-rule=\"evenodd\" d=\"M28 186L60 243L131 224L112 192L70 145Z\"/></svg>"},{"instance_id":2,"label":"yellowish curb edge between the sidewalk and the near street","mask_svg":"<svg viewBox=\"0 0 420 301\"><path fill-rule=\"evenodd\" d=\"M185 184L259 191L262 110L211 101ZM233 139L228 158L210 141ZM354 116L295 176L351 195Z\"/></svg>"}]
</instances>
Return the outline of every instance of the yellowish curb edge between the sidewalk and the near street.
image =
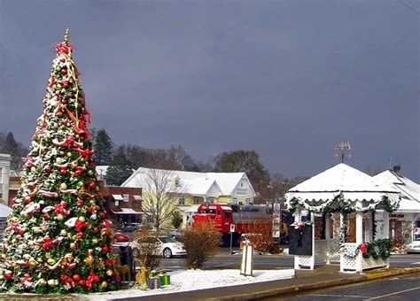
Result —
<instances>
[{"instance_id":1,"label":"yellowish curb edge between the sidewalk and the near street","mask_svg":"<svg viewBox=\"0 0 420 301\"><path fill-rule=\"evenodd\" d=\"M206 298L206 300L212 301L224 301L224 300L253 300L263 297L276 297L279 295L290 295L299 291L308 291L315 289L325 289L332 288L335 286L354 284L359 282L368 282L380 278L391 277L394 275L401 274L416 274L420 273L420 267L409 267L409 268L398 268L393 270L385 270L380 272L370 272L368 274L359 274L354 275L351 278L341 278L337 280L331 280L327 282L314 282L302 285L292 285L289 287L279 288L279 289L269 289L263 291L250 292L247 294L238 294L238 295L229 295L226 297L214 297Z\"/></svg>"}]
</instances>

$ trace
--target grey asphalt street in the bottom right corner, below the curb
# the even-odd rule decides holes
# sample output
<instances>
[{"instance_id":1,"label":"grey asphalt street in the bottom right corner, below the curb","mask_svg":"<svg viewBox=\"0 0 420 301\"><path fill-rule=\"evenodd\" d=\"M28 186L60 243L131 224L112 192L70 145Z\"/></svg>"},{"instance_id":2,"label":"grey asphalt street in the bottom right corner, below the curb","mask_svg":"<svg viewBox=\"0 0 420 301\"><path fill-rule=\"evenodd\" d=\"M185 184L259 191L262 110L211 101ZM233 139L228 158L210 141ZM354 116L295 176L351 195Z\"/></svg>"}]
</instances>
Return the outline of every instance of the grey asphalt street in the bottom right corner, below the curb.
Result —
<instances>
[{"instance_id":1,"label":"grey asphalt street in the bottom right corner, below the curb","mask_svg":"<svg viewBox=\"0 0 420 301\"><path fill-rule=\"evenodd\" d=\"M320 289L294 297L269 297L262 300L418 300L419 296L420 274L409 274L375 282Z\"/></svg>"}]
</instances>

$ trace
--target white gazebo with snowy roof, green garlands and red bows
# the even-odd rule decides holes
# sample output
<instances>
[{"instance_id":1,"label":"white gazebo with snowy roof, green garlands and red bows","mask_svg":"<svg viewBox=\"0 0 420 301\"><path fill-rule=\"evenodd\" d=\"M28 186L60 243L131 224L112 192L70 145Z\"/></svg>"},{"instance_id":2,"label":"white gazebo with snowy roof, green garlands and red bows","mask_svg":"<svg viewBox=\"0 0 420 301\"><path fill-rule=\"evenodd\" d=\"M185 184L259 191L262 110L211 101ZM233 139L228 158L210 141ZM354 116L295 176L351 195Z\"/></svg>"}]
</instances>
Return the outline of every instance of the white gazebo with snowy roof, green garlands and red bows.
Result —
<instances>
[{"instance_id":1,"label":"white gazebo with snowy roof, green garlands and red bows","mask_svg":"<svg viewBox=\"0 0 420 301\"><path fill-rule=\"evenodd\" d=\"M388 212L398 208L399 195L396 189L380 185L368 174L344 163L290 189L286 204L295 217L294 226L300 229L311 224L312 228L312 255L296 255L295 268L314 269L315 257L317 262L326 264L339 261L341 272L360 273L368 268L389 266L389 248L379 251L388 240L375 241L378 230L375 212L384 211L385 222L381 230L387 238ZM310 222L302 225L303 211L309 213ZM316 220L323 219L325 235L322 239L317 237L315 240L315 216L318 217ZM350 218L355 220L353 242L346 240ZM366 247L368 254L374 255L373 259L362 256Z\"/></svg>"}]
</instances>

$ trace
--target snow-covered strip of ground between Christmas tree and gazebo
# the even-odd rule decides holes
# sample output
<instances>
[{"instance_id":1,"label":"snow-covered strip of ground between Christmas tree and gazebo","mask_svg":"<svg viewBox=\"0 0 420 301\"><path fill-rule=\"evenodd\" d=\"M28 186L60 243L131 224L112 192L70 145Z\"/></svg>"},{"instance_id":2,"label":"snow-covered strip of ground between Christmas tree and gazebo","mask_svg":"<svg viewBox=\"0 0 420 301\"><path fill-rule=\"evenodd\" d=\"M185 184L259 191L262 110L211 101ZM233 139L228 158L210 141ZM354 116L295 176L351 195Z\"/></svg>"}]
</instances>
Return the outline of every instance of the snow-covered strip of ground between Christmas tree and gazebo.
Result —
<instances>
[{"instance_id":1,"label":"snow-covered strip of ground between Christmas tree and gazebo","mask_svg":"<svg viewBox=\"0 0 420 301\"><path fill-rule=\"evenodd\" d=\"M131 289L91 294L83 297L88 297L89 300L95 301L124 299L126 297L141 297L255 282L268 282L272 280L292 278L294 277L294 270L254 270L253 276L241 275L239 270L179 270L168 274L171 276L171 285L164 286L162 289L142 290L133 287Z\"/></svg>"}]
</instances>

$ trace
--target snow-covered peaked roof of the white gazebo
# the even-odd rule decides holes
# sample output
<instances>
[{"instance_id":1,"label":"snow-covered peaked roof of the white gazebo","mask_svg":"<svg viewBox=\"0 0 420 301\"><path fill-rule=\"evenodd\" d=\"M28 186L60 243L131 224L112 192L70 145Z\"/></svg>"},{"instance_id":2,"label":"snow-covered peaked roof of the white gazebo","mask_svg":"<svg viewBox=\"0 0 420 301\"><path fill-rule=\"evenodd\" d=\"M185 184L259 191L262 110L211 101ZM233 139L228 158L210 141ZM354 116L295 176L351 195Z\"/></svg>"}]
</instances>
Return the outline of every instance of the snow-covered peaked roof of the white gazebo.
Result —
<instances>
[{"instance_id":1,"label":"snow-covered peaked roof of the white gazebo","mask_svg":"<svg viewBox=\"0 0 420 301\"><path fill-rule=\"evenodd\" d=\"M309 201L331 200L340 193L353 200L380 199L384 195L395 198L399 194L397 189L375 181L369 174L340 163L289 189L286 197Z\"/></svg>"}]
</instances>

